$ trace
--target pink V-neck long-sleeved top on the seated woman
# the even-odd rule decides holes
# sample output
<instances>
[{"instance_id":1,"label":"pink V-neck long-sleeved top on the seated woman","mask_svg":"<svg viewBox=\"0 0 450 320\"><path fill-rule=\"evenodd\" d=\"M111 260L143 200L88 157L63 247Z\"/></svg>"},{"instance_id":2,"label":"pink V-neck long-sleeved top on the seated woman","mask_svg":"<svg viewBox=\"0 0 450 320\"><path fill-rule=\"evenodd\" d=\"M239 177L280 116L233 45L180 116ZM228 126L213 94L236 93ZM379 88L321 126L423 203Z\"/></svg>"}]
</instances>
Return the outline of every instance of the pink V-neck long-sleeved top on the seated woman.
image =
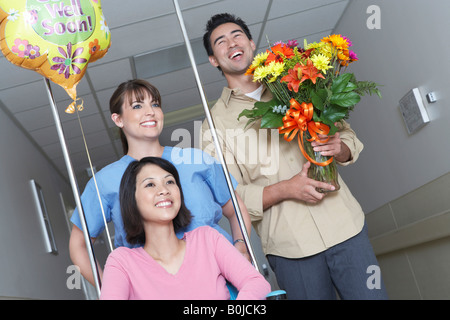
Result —
<instances>
[{"instance_id":1,"label":"pink V-neck long-sleeved top on the seated woman","mask_svg":"<svg viewBox=\"0 0 450 320\"><path fill-rule=\"evenodd\" d=\"M120 247L108 257L102 300L229 299L228 279L237 299L265 299L270 284L219 232L199 227L184 235L186 252L175 275L168 273L142 247Z\"/></svg>"}]
</instances>

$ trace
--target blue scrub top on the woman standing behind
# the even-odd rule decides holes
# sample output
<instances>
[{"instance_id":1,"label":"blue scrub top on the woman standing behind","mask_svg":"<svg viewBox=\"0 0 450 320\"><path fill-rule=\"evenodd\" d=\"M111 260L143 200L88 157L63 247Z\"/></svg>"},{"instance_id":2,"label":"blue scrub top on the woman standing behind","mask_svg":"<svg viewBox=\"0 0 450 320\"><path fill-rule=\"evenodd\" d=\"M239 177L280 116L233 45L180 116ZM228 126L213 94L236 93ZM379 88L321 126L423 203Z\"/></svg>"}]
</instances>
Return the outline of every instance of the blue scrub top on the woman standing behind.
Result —
<instances>
[{"instance_id":1,"label":"blue scrub top on the woman standing behind","mask_svg":"<svg viewBox=\"0 0 450 320\"><path fill-rule=\"evenodd\" d=\"M164 147L162 158L170 161L177 168L184 202L193 216L190 225L179 230L177 236L181 238L187 231L208 225L232 242L232 237L218 225L222 218L222 206L231 198L220 163L202 150L193 148ZM120 246L136 247L126 241L119 204L120 181L132 161L135 159L125 155L95 175L106 221L114 223L116 248ZM236 180L233 177L231 180L233 188L236 189ZM89 234L93 238L98 237L103 232L105 225L93 179L87 183L81 195L81 203ZM71 221L82 229L77 209L75 209Z\"/></svg>"}]
</instances>

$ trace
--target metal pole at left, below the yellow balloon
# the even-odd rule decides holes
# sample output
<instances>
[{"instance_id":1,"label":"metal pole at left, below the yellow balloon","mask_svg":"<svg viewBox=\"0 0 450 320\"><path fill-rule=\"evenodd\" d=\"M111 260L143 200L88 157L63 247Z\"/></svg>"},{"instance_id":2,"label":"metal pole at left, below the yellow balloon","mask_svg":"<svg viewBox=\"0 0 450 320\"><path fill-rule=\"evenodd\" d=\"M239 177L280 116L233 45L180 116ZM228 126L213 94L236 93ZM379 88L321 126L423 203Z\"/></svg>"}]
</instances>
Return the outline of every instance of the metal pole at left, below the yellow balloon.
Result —
<instances>
[{"instance_id":1,"label":"metal pole at left, below the yellow balloon","mask_svg":"<svg viewBox=\"0 0 450 320\"><path fill-rule=\"evenodd\" d=\"M81 205L80 192L78 190L78 185L75 179L75 174L73 172L72 162L70 161L69 151L67 149L66 139L64 137L64 132L61 125L61 120L59 118L58 109L56 108L55 98L53 97L52 89L50 87L50 81L44 78L45 86L47 88L48 99L50 101L50 107L52 109L53 118L55 120L56 131L58 132L59 141L61 143L61 148L64 155L64 160L66 162L67 172L69 174L70 184L72 186L73 195L75 197L75 203L78 208L78 214L80 215L81 226L83 229L84 239L86 241L86 248L89 255L89 260L91 263L92 273L94 275L95 287L97 289L97 295L100 297L100 277L97 269L97 263L94 256L94 250L92 248L91 238L89 236L89 231L86 224L86 218L83 212L83 206Z\"/></svg>"}]
</instances>

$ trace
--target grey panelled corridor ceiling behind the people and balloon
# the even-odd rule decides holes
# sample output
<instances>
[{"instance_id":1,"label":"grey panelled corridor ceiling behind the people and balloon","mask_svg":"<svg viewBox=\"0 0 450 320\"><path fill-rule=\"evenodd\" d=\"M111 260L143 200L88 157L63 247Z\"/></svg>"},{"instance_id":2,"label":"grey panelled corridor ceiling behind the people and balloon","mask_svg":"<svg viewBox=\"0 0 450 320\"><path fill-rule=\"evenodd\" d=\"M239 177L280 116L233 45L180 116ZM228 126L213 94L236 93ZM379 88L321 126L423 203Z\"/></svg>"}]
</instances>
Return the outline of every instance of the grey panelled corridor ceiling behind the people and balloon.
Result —
<instances>
[{"instance_id":1,"label":"grey panelled corridor ceiling behind the people and balloon","mask_svg":"<svg viewBox=\"0 0 450 320\"><path fill-rule=\"evenodd\" d=\"M320 40L333 31L348 2L179 0L209 103L220 96L226 85L221 73L207 61L201 47L206 21L212 15L229 12L241 17L249 25L258 51L262 51L267 48L267 39L271 42L296 39L299 43L305 38L309 42ZM88 179L88 154L97 170L122 156L120 140L109 113L109 98L121 82L143 77L160 90L165 112L162 145L182 142L184 146L195 146L195 128L204 119L173 1L103 0L102 9L111 31L111 48L102 59L89 64L77 86L77 94L84 100L84 110L79 116L88 153L76 114L64 113L71 100L61 87L53 83L51 86L80 187ZM177 62L173 59L171 62L166 58L168 56L178 57ZM54 164L55 170L67 177L42 76L11 64L2 54L0 74L8 75L0 77L0 107ZM179 131L174 132L176 129Z\"/></svg>"}]
</instances>

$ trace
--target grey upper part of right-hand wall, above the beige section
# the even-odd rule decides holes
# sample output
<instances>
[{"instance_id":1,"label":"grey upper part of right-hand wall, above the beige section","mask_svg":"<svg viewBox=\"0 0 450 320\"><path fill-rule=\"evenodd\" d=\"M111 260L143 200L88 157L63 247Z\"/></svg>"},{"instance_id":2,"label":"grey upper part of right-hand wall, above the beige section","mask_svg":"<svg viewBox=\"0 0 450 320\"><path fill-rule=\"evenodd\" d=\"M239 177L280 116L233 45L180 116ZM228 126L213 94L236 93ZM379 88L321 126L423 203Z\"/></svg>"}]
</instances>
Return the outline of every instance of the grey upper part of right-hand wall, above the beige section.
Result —
<instances>
[{"instance_id":1,"label":"grey upper part of right-hand wall, above the beige section","mask_svg":"<svg viewBox=\"0 0 450 320\"><path fill-rule=\"evenodd\" d=\"M367 28L370 5L381 9L379 30ZM363 98L350 116L365 149L341 170L366 213L449 172L449 14L448 0L353 0L337 26L360 58L350 71L383 85L382 100ZM398 101L415 87L431 122L408 135ZM434 104L425 99L430 91Z\"/></svg>"}]
</instances>

